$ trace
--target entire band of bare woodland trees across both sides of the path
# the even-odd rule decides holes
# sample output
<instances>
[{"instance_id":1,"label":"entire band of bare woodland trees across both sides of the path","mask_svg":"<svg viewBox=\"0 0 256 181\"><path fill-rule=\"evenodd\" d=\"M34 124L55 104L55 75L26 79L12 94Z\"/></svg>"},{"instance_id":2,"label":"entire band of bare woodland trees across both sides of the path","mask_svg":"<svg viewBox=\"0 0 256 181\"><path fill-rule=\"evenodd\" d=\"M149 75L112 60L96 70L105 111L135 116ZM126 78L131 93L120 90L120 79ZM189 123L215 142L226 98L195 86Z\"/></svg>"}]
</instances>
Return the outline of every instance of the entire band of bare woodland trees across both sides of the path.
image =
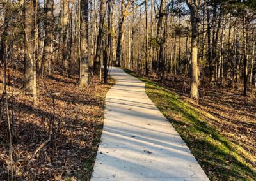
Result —
<instances>
[{"instance_id":1,"label":"entire band of bare woodland trees across both sides of the path","mask_svg":"<svg viewBox=\"0 0 256 181\"><path fill-rule=\"evenodd\" d=\"M245 96L256 82L255 6L253 0L4 0L1 64L24 64L24 91L35 103L36 74L60 71L68 81L79 73L84 89L103 61L162 82L190 78L193 99L198 86L243 84ZM108 67L104 75L106 80Z\"/></svg>"}]
</instances>

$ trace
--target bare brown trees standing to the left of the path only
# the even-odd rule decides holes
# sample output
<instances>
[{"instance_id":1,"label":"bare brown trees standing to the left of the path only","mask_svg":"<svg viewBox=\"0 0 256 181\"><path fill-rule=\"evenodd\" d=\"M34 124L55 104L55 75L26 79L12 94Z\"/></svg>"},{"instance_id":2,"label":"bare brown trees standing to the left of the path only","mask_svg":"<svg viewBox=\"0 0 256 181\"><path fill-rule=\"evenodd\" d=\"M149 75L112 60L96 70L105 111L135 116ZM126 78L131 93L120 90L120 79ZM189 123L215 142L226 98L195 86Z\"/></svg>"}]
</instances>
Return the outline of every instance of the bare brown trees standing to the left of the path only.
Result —
<instances>
[{"instance_id":1,"label":"bare brown trees standing to the left of the path only","mask_svg":"<svg viewBox=\"0 0 256 181\"><path fill-rule=\"evenodd\" d=\"M79 73L79 89L89 85L90 66L93 67L89 60L97 55L99 70L102 59L100 43L103 40L94 41L96 36L103 37L105 31L106 1L101 4L103 9L98 21L96 1L92 4L87 0L1 1L0 67L4 62L7 69L13 62L24 64L23 88L26 94L33 96L33 103L36 104L38 94L37 75L51 76L59 71L68 81L70 73ZM111 45L114 44L113 40ZM93 50L94 45L98 46L97 51Z\"/></svg>"}]
</instances>

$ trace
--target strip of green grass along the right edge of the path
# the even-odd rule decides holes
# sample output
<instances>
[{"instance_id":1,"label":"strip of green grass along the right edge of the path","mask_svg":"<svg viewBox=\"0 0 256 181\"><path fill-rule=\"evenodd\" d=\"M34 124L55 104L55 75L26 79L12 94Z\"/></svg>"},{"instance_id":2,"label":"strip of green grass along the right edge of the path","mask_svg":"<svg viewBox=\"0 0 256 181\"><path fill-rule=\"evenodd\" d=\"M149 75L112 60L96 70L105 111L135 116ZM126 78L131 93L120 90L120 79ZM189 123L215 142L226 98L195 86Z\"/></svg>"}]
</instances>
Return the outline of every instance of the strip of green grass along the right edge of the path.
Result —
<instances>
[{"instance_id":1,"label":"strip of green grass along the right edge of the path","mask_svg":"<svg viewBox=\"0 0 256 181\"><path fill-rule=\"evenodd\" d=\"M148 97L170 120L210 180L256 180L255 157L207 124L204 113L156 82L124 71L145 83Z\"/></svg>"}]
</instances>

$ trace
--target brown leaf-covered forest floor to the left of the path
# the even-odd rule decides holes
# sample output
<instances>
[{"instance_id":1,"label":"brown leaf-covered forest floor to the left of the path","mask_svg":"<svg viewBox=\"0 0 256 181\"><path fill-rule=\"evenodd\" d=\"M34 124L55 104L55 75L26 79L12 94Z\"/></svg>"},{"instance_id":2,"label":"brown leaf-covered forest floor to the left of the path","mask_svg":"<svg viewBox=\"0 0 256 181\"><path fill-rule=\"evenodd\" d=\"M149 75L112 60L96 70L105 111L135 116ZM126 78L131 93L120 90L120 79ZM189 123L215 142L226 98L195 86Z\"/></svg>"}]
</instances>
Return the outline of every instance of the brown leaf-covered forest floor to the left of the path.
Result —
<instances>
[{"instance_id":1,"label":"brown leaf-covered forest floor to the left of the path","mask_svg":"<svg viewBox=\"0 0 256 181\"><path fill-rule=\"evenodd\" d=\"M104 85L99 82L99 76L93 76L90 87L79 91L77 75L69 76L68 80L58 73L45 78L38 76L39 96L35 106L31 96L18 94L22 92L21 72L10 72L7 87L16 180L88 180L102 133L104 98L113 80ZM0 82L0 89L3 90L3 82ZM53 118L53 101L49 93L54 92L58 94L54 96ZM7 180L10 171L8 125L6 104L1 106L0 180ZM38 145L47 140L51 119L54 120L54 141L29 161Z\"/></svg>"}]
</instances>

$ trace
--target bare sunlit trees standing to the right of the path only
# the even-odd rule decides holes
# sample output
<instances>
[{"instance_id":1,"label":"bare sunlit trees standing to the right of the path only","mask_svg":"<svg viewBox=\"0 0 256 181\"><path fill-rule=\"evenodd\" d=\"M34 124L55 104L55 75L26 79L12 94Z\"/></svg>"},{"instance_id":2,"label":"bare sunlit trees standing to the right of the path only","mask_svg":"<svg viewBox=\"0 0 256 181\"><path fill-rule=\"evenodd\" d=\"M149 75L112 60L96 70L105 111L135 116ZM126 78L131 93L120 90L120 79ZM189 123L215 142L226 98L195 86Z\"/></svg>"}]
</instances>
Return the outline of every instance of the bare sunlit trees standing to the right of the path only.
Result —
<instances>
[{"instance_id":1,"label":"bare sunlit trees standing to the right of the path only","mask_svg":"<svg viewBox=\"0 0 256 181\"><path fill-rule=\"evenodd\" d=\"M147 1L134 14L118 27L125 33L120 55L116 49L117 66L156 74L160 81L189 75L193 99L198 99L198 86L239 89L243 83L244 96L253 89L255 1Z\"/></svg>"}]
</instances>

